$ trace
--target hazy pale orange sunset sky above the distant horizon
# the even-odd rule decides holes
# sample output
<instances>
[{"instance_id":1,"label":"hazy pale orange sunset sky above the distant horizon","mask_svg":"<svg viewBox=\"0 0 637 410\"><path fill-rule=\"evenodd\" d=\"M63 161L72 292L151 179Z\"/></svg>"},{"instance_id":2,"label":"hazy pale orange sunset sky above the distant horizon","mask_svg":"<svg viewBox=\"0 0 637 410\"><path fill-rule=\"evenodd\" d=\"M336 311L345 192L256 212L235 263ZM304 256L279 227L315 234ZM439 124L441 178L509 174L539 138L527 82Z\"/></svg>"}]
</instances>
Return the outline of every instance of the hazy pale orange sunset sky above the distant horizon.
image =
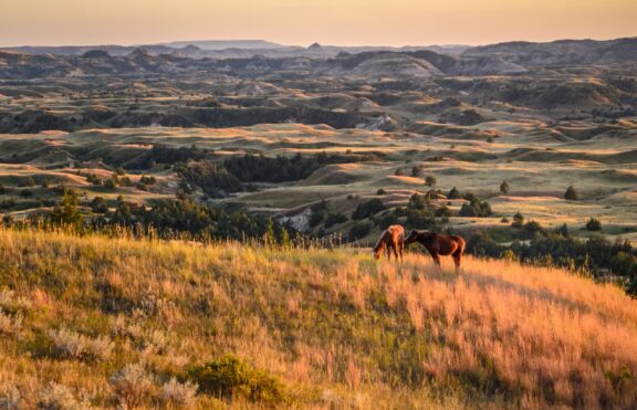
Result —
<instances>
[{"instance_id":1,"label":"hazy pale orange sunset sky above the distant horizon","mask_svg":"<svg viewBox=\"0 0 637 410\"><path fill-rule=\"evenodd\" d=\"M637 0L0 0L0 45L263 39L482 44L637 35Z\"/></svg>"}]
</instances>

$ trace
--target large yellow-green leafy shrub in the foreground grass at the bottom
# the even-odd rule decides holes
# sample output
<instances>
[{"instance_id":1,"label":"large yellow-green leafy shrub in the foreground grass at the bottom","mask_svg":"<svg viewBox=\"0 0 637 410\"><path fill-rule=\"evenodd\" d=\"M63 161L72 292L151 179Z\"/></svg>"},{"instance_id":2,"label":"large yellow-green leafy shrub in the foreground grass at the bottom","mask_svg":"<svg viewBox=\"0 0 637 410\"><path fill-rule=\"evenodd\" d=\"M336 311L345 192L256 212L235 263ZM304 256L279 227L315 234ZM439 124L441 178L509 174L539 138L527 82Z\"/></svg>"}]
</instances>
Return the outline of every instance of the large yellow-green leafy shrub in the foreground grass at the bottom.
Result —
<instances>
[{"instance_id":1,"label":"large yellow-green leafy shrub in the foreground grass at the bottom","mask_svg":"<svg viewBox=\"0 0 637 410\"><path fill-rule=\"evenodd\" d=\"M218 397L243 397L269 406L285 404L290 396L279 378L257 370L234 356L197 366L188 371L200 391Z\"/></svg>"}]
</instances>

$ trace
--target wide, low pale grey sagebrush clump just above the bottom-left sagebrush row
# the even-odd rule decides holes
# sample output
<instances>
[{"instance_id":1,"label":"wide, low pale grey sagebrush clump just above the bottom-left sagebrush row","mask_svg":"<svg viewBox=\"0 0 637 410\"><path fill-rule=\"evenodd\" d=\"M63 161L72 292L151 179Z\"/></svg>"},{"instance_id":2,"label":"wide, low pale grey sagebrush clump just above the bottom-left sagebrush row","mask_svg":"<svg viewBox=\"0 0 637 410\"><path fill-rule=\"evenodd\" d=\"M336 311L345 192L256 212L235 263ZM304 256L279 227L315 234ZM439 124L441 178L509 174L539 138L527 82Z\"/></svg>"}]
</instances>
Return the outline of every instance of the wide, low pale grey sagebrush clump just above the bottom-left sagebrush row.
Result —
<instances>
[{"instance_id":1,"label":"wide, low pale grey sagebrush clump just above the bottom-left sagebrush row","mask_svg":"<svg viewBox=\"0 0 637 410\"><path fill-rule=\"evenodd\" d=\"M48 336L59 356L81 360L105 360L113 351L107 337L90 338L67 329L49 330Z\"/></svg>"}]
</instances>

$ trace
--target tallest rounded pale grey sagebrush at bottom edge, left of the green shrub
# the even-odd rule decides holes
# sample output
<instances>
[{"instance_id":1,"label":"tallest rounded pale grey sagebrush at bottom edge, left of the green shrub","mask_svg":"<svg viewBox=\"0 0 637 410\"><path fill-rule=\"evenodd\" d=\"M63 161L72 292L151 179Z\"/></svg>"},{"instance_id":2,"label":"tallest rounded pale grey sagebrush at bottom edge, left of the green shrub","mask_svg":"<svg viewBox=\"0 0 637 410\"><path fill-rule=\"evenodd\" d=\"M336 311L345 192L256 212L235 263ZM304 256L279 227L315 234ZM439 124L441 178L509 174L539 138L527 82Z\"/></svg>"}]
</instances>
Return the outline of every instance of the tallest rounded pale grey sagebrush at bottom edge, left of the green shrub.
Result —
<instances>
[{"instance_id":1,"label":"tallest rounded pale grey sagebrush at bottom edge, left of the green shrub","mask_svg":"<svg viewBox=\"0 0 637 410\"><path fill-rule=\"evenodd\" d=\"M127 408L139 406L153 389L153 380L139 364L126 365L108 380L117 400Z\"/></svg>"}]
</instances>

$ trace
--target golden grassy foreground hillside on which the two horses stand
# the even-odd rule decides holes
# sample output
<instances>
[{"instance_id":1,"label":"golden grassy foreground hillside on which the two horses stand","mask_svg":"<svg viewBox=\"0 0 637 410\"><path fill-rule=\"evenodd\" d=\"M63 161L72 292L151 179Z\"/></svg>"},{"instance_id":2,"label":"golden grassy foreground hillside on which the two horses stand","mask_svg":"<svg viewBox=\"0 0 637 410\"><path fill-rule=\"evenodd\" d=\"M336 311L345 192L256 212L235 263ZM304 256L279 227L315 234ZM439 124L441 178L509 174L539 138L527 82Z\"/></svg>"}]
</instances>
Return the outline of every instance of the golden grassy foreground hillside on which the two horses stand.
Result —
<instances>
[{"instance_id":1,"label":"golden grassy foreground hillside on which the two horses stand","mask_svg":"<svg viewBox=\"0 0 637 410\"><path fill-rule=\"evenodd\" d=\"M637 400L637 301L508 262L0 230L0 311L2 408Z\"/></svg>"}]
</instances>

